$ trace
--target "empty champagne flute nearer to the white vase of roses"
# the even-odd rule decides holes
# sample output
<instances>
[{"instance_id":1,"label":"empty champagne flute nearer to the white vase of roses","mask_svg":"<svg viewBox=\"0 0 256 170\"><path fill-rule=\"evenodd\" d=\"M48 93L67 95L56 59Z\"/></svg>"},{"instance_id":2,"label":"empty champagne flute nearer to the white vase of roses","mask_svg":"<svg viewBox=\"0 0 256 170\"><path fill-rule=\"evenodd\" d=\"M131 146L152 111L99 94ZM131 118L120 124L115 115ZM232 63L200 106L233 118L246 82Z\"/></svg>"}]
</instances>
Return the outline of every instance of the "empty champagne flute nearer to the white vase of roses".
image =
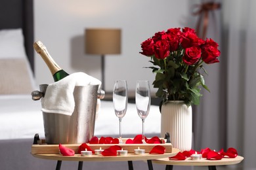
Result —
<instances>
[{"instance_id":1,"label":"empty champagne flute nearer to the white vase of roses","mask_svg":"<svg viewBox=\"0 0 256 170\"><path fill-rule=\"evenodd\" d=\"M136 84L136 95L135 103L137 107L137 112L142 120L142 142L146 143L144 140L144 122L148 113L150 111L150 84L148 80L139 80Z\"/></svg>"}]
</instances>

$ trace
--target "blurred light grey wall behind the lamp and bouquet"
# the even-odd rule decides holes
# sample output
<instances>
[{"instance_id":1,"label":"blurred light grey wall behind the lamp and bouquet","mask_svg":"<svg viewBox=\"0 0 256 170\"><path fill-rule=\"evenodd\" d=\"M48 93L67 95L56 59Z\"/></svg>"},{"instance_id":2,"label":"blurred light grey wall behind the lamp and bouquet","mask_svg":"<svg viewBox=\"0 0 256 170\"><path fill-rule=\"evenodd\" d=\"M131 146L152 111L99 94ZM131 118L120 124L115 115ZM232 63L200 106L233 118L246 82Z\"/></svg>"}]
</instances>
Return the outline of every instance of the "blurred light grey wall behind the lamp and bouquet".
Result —
<instances>
[{"instance_id":1,"label":"blurred light grey wall behind the lamp and bouquet","mask_svg":"<svg viewBox=\"0 0 256 170\"><path fill-rule=\"evenodd\" d=\"M56 63L68 73L85 72L101 80L100 56L84 53L84 30L90 27L121 29L121 54L106 55L105 87L126 79L129 90L137 80L154 81L152 66L139 54L140 43L170 27L195 26L191 0L44 0L34 1L35 41L42 41ZM35 54L37 84L52 83L47 65ZM153 90L152 91L156 91Z\"/></svg>"}]
</instances>

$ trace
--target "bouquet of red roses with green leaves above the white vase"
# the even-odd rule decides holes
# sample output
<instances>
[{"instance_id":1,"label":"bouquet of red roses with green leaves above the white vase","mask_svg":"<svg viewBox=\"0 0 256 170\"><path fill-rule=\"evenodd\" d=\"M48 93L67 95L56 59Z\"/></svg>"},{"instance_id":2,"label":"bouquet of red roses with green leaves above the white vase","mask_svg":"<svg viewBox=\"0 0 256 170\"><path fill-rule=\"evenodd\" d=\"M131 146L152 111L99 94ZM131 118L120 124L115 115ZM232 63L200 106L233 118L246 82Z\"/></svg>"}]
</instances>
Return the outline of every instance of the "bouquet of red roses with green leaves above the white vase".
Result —
<instances>
[{"instance_id":1,"label":"bouquet of red roses with green leaves above the white vase","mask_svg":"<svg viewBox=\"0 0 256 170\"><path fill-rule=\"evenodd\" d=\"M187 105L200 103L200 86L205 85L203 63L219 62L221 52L219 44L212 39L200 39L194 29L184 27L171 28L155 33L141 43L144 56L151 58L153 73L156 78L154 88L156 96L165 101L184 101Z\"/></svg>"}]
</instances>

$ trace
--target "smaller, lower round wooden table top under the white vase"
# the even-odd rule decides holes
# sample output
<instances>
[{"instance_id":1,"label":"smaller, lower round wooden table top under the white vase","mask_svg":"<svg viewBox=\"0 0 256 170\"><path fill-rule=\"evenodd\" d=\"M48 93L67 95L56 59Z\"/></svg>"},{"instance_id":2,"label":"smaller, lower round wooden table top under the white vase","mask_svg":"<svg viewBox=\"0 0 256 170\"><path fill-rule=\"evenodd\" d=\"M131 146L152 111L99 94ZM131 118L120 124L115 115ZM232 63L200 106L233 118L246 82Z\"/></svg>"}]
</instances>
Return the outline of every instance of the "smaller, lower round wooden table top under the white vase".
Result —
<instances>
[{"instance_id":1,"label":"smaller, lower round wooden table top under the white vase","mask_svg":"<svg viewBox=\"0 0 256 170\"><path fill-rule=\"evenodd\" d=\"M190 166L209 166L209 165L232 165L240 163L244 160L242 156L236 156L236 158L223 158L221 160L206 160L202 158L201 160L169 160L169 158L160 158L158 160L153 160L153 163L163 164L163 165L190 165Z\"/></svg>"}]
</instances>

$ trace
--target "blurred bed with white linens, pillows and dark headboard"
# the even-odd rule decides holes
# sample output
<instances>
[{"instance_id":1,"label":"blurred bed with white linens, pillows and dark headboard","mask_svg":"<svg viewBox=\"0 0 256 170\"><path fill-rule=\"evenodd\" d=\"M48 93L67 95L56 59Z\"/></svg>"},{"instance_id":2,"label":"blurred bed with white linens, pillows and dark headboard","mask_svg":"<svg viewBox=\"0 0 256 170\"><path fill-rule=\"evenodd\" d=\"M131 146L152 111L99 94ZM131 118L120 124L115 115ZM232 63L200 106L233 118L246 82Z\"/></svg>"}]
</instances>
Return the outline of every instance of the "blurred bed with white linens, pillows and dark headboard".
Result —
<instances>
[{"instance_id":1,"label":"blurred bed with white linens, pillows and dark headboard","mask_svg":"<svg viewBox=\"0 0 256 170\"><path fill-rule=\"evenodd\" d=\"M54 169L56 162L39 160L30 154L33 136L44 138L41 102L30 93L38 90L33 78L33 0L1 0L0 5L0 169ZM135 104L129 103L123 118L123 137L141 133ZM146 137L160 135L158 106L150 109L145 121ZM102 101L95 122L95 136L117 137L118 118L112 101ZM126 162L86 164L87 169L116 169ZM135 169L146 169L135 162ZM161 165L154 165L159 167ZM62 169L76 169L77 162L64 162ZM85 167L85 166L84 166ZM162 167L163 168L163 167Z\"/></svg>"}]
</instances>

